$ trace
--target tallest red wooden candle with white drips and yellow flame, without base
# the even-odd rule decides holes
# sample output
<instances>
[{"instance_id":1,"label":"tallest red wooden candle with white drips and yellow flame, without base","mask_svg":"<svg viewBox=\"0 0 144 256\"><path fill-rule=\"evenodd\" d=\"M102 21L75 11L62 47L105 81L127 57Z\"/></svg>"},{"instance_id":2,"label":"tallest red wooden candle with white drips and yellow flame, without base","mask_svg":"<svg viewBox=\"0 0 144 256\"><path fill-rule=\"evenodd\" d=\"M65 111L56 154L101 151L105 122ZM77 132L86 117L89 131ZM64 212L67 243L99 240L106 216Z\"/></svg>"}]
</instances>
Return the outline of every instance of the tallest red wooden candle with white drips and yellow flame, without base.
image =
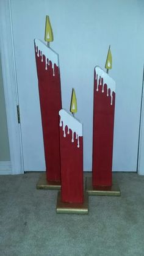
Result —
<instances>
[{"instance_id":1,"label":"tallest red wooden candle with white drips and yellow flame, without base","mask_svg":"<svg viewBox=\"0 0 144 256\"><path fill-rule=\"evenodd\" d=\"M53 40L48 16L46 16L45 40L47 42ZM46 178L47 181L60 181L59 110L62 108L62 101L59 56L40 40L35 39L34 42L45 148Z\"/></svg>"}]
</instances>

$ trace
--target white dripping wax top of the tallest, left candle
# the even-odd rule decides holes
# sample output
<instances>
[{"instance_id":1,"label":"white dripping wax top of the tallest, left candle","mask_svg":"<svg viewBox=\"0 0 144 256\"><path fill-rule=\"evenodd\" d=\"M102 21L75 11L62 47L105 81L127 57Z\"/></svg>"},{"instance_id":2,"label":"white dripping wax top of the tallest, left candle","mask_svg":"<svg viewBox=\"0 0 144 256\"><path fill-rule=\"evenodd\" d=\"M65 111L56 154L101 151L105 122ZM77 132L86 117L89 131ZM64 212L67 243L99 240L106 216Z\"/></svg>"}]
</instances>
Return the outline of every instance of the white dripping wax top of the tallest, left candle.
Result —
<instances>
[{"instance_id":1,"label":"white dripping wax top of the tallest, left candle","mask_svg":"<svg viewBox=\"0 0 144 256\"><path fill-rule=\"evenodd\" d=\"M48 69L49 61L51 60L53 76L55 76L54 64L56 64L57 67L59 67L58 54L55 51L53 51L51 48L46 46L45 43L41 42L40 40L35 39L34 42L35 42L37 56L38 57L41 56L41 62L43 62L43 55L45 55L45 70Z\"/></svg>"}]
</instances>

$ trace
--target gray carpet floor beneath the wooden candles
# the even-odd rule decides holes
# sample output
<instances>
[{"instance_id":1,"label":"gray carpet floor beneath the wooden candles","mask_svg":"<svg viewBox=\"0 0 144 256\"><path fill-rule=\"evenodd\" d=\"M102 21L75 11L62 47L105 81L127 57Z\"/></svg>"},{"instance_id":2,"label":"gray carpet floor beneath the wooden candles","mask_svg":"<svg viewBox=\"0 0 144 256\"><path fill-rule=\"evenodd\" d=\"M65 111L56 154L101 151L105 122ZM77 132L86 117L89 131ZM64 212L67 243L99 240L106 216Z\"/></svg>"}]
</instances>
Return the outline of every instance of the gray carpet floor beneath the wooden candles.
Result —
<instances>
[{"instance_id":1,"label":"gray carpet floor beneath the wooden candles","mask_svg":"<svg viewBox=\"0 0 144 256\"><path fill-rule=\"evenodd\" d=\"M88 215L56 214L39 173L0 177L0 255L144 255L144 177L114 173L121 197L89 197Z\"/></svg>"}]
</instances>

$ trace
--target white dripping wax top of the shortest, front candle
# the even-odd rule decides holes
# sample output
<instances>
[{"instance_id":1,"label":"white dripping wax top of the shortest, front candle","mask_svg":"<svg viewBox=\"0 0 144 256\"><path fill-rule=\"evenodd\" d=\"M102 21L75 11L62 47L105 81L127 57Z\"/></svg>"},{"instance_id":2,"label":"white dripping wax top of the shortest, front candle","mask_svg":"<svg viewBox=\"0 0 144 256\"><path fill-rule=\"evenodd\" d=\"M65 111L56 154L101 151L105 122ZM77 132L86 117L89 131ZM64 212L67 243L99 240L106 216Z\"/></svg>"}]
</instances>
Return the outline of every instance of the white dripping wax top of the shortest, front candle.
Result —
<instances>
[{"instance_id":1,"label":"white dripping wax top of the shortest, front candle","mask_svg":"<svg viewBox=\"0 0 144 256\"><path fill-rule=\"evenodd\" d=\"M79 148L79 137L82 136L82 123L79 122L75 117L69 114L65 109L60 109L60 127L63 130L63 137L66 137L65 127L68 127L68 134L70 129L72 131L71 142L74 142L74 133L76 133L77 147Z\"/></svg>"}]
</instances>

